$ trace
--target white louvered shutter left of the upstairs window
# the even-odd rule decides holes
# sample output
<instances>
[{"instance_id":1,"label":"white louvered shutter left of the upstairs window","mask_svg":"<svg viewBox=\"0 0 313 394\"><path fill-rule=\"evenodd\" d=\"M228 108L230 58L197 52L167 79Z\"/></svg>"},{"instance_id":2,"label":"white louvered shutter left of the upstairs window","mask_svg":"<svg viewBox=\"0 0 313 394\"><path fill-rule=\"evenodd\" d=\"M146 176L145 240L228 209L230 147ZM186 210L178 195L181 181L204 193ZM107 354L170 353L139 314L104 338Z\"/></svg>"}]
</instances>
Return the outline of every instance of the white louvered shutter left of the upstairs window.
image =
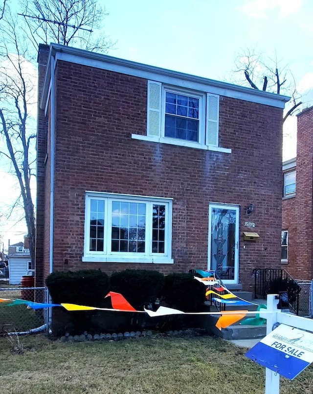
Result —
<instances>
[{"instance_id":1,"label":"white louvered shutter left of the upstairs window","mask_svg":"<svg viewBox=\"0 0 313 394\"><path fill-rule=\"evenodd\" d=\"M161 83L148 81L147 135L159 137L161 130Z\"/></svg>"}]
</instances>

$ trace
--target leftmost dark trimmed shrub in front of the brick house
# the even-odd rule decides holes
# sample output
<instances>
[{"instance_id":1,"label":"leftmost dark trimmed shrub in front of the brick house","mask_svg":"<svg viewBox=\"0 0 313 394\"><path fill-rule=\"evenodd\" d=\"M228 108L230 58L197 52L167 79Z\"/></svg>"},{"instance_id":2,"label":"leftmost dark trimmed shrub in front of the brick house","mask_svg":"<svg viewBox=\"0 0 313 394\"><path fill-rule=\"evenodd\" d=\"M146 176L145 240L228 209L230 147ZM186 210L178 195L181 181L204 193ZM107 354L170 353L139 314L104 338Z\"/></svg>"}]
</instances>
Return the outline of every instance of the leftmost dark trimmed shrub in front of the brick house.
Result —
<instances>
[{"instance_id":1,"label":"leftmost dark trimmed shrub in front of the brick house","mask_svg":"<svg viewBox=\"0 0 313 394\"><path fill-rule=\"evenodd\" d=\"M103 307L110 280L98 270L56 271L45 279L53 302Z\"/></svg>"}]
</instances>

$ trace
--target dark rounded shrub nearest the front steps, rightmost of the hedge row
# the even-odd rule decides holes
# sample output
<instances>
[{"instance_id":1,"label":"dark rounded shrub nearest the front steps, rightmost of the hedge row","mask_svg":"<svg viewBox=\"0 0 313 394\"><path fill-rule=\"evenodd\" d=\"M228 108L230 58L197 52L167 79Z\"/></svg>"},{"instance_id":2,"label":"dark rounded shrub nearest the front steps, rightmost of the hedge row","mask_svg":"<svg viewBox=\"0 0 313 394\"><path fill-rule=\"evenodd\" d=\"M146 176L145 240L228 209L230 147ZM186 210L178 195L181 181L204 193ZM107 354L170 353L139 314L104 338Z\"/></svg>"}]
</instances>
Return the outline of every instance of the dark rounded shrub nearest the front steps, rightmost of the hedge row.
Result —
<instances>
[{"instance_id":1,"label":"dark rounded shrub nearest the front steps, rightmost of the hedge row","mask_svg":"<svg viewBox=\"0 0 313 394\"><path fill-rule=\"evenodd\" d=\"M171 308L196 312L205 301L205 286L190 273L172 273L164 278L163 299Z\"/></svg>"}]
</instances>

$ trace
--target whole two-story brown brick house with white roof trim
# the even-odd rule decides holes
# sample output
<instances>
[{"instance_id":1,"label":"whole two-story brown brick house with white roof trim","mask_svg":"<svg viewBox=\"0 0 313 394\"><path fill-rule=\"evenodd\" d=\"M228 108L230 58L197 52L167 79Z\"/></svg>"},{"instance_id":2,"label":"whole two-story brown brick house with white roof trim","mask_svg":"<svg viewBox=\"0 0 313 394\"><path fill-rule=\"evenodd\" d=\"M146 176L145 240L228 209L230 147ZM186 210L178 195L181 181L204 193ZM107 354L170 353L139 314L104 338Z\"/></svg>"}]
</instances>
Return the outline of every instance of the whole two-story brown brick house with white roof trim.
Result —
<instances>
[{"instance_id":1,"label":"whole two-story brown brick house with white roof trim","mask_svg":"<svg viewBox=\"0 0 313 394\"><path fill-rule=\"evenodd\" d=\"M55 44L38 61L37 284L209 268L248 290L280 265L289 98Z\"/></svg>"}]
</instances>

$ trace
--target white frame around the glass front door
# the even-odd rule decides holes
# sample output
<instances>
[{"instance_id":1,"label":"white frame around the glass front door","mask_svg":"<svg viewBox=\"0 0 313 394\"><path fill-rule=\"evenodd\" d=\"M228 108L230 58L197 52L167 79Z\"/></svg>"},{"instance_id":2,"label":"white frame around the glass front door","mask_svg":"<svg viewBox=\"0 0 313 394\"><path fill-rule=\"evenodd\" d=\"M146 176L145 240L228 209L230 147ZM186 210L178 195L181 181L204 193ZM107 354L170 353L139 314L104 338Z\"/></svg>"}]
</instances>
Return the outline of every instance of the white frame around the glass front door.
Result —
<instances>
[{"instance_id":1,"label":"white frame around the glass front door","mask_svg":"<svg viewBox=\"0 0 313 394\"><path fill-rule=\"evenodd\" d=\"M236 226L235 226L235 267L234 267L234 279L233 280L225 280L224 283L229 284L237 284L239 283L239 221L240 221L240 205L237 204L224 204L224 203L209 203L209 226L208 226L208 261L207 267L208 270L211 270L211 228L212 228L212 209L213 208L222 208L222 209L230 209L236 211Z\"/></svg>"}]
</instances>

